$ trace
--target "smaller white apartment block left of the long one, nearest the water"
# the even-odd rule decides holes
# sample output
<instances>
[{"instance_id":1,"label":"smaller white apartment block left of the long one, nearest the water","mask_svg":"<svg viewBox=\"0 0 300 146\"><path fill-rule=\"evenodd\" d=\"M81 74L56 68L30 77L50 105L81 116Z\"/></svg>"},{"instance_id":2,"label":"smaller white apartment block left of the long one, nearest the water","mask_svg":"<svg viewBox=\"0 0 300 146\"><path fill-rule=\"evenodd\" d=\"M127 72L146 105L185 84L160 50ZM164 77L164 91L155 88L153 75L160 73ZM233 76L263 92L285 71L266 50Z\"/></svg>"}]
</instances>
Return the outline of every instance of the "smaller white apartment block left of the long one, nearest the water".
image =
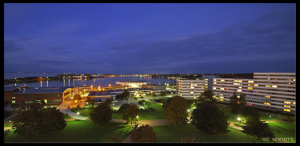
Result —
<instances>
[{"instance_id":1,"label":"smaller white apartment block left of the long one, nearest the water","mask_svg":"<svg viewBox=\"0 0 300 146\"><path fill-rule=\"evenodd\" d=\"M177 80L176 95L185 99L197 99L204 91L203 80Z\"/></svg>"}]
</instances>

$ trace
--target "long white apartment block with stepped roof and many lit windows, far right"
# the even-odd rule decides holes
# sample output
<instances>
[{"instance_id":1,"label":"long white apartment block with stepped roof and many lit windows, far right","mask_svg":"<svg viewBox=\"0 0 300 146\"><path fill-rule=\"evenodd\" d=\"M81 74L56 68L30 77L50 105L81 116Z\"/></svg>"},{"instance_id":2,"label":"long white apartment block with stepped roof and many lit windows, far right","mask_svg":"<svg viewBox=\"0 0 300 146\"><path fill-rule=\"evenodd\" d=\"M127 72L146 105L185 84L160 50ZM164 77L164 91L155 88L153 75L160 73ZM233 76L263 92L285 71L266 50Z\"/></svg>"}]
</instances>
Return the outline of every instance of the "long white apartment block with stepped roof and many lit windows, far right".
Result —
<instances>
[{"instance_id":1,"label":"long white apartment block with stepped roof and many lit windows, far right","mask_svg":"<svg viewBox=\"0 0 300 146\"><path fill-rule=\"evenodd\" d=\"M246 94L247 106L296 112L296 73L254 73L253 79L213 78L212 91L220 102L229 103L236 91Z\"/></svg>"}]
</instances>

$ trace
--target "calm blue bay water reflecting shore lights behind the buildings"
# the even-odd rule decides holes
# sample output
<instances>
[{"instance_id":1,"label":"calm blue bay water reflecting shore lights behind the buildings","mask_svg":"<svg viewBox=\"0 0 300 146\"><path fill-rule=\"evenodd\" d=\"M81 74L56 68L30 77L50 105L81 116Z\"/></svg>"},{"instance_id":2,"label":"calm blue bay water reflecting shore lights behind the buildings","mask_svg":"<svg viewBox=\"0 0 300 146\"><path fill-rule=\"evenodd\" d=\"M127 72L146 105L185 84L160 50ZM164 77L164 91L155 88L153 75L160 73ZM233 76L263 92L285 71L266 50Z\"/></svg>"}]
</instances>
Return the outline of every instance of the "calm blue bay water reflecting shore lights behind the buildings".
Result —
<instances>
[{"instance_id":1,"label":"calm blue bay water reflecting shore lights behind the buildings","mask_svg":"<svg viewBox=\"0 0 300 146\"><path fill-rule=\"evenodd\" d=\"M19 75L18 77L50 77L44 76L44 73L15 73ZM25 75L25 76L21 76ZM34 76L36 75L36 76ZM51 75L51 77L56 76L57 74ZM16 77L16 78L18 78ZM11 77L14 78L14 77ZM10 78L10 79L11 79ZM167 78L152 78L152 77L139 77L139 76L122 76L122 77L104 77L104 78L94 78L94 79L65 79L65 80L45 80L45 81L32 81L16 84L7 84L5 86L30 86L30 87L71 87L71 86L92 86L93 87L108 87L109 85L116 85L116 81L139 81L147 82L148 84L162 84L165 83L174 83L176 80L169 80Z\"/></svg>"}]
</instances>

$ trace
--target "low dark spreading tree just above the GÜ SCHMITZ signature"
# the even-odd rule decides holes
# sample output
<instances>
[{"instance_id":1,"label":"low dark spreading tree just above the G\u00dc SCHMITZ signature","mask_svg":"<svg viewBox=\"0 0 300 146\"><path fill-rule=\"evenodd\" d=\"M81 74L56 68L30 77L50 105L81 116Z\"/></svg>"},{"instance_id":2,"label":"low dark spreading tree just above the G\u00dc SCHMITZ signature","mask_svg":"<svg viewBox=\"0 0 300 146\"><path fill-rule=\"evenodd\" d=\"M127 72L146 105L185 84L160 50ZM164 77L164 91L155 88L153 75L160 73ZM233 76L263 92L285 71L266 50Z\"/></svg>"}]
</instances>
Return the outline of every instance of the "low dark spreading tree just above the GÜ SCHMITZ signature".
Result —
<instances>
[{"instance_id":1,"label":"low dark spreading tree just above the G\u00dc SCHMITZ signature","mask_svg":"<svg viewBox=\"0 0 300 146\"><path fill-rule=\"evenodd\" d=\"M266 121L250 120L246 123L246 126L242 126L242 132L247 135L257 137L257 140L263 137L268 137L270 139L275 138L274 133L270 129L270 125L265 122Z\"/></svg>"}]
</instances>

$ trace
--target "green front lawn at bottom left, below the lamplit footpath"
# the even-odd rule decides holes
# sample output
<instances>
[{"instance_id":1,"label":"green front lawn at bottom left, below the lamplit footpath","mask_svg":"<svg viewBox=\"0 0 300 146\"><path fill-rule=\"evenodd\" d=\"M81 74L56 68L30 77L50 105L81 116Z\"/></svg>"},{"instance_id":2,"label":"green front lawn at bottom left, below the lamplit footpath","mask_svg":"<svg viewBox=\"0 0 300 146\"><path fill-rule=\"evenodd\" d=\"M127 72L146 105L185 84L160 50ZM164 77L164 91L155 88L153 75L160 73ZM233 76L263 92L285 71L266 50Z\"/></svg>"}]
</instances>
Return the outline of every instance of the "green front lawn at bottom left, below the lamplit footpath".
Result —
<instances>
[{"instance_id":1,"label":"green front lawn at bottom left, below the lamplit footpath","mask_svg":"<svg viewBox=\"0 0 300 146\"><path fill-rule=\"evenodd\" d=\"M132 131L125 123L108 122L106 125L94 124L92 121L68 121L64 130L49 136L35 134L31 137L13 134L13 130L4 137L5 142L14 143L93 143L106 142L109 134L119 135L124 141Z\"/></svg>"}]
</instances>

